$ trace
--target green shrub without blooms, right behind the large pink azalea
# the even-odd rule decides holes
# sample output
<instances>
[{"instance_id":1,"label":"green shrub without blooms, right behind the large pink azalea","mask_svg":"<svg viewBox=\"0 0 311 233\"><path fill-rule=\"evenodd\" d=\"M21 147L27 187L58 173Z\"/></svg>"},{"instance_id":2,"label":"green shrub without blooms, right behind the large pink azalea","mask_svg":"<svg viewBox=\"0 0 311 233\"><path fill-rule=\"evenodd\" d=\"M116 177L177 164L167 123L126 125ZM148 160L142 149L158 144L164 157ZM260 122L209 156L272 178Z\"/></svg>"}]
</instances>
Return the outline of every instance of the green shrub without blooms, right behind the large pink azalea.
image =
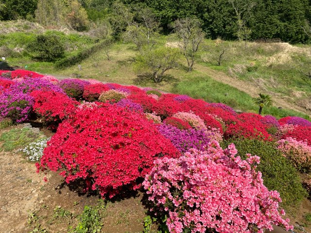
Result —
<instances>
[{"instance_id":1,"label":"green shrub without blooms, right behind the large pink azalea","mask_svg":"<svg viewBox=\"0 0 311 233\"><path fill-rule=\"evenodd\" d=\"M239 151L238 155L243 159L246 158L246 153L260 157L257 169L262 172L263 183L269 190L277 190L280 193L285 209L289 206L298 206L307 196L294 166L276 150L274 142L236 139L225 141L224 147L230 143L234 143Z\"/></svg>"}]
</instances>

